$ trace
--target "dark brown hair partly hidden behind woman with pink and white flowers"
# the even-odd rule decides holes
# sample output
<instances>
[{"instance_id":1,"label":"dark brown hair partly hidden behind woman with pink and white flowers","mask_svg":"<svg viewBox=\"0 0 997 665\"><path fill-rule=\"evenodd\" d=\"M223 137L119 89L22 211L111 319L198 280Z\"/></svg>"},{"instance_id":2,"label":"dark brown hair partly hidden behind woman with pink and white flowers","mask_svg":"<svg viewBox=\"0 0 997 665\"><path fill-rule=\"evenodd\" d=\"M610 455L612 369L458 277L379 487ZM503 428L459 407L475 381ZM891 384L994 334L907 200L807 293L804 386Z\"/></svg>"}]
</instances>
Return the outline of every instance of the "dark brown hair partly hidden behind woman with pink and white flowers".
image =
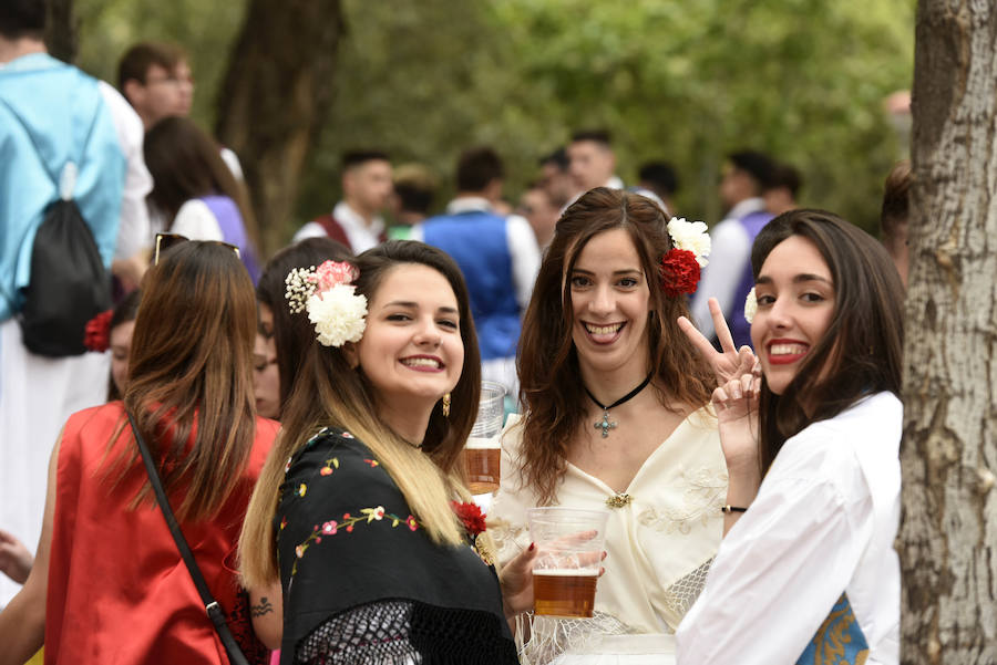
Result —
<instances>
[{"instance_id":1,"label":"dark brown hair partly hidden behind woman with pink and white flowers","mask_svg":"<svg viewBox=\"0 0 997 665\"><path fill-rule=\"evenodd\" d=\"M352 261L353 252L331 238L308 238L278 251L267 263L256 284L256 298L274 314L274 346L280 376L280 409L287 404L305 355L315 340L315 326L306 316L287 309L287 273L295 268L314 268L322 261Z\"/></svg>"}]
</instances>

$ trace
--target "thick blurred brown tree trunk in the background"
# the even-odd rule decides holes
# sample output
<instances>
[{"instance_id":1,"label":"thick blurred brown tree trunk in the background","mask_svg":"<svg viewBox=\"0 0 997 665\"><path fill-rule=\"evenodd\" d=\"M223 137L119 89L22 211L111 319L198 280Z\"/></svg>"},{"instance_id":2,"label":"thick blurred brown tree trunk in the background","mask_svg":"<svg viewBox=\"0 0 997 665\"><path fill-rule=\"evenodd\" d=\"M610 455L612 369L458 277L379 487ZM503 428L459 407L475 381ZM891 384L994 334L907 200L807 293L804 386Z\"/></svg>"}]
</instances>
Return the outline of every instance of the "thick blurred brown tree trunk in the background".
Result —
<instances>
[{"instance_id":1,"label":"thick blurred brown tree trunk in the background","mask_svg":"<svg viewBox=\"0 0 997 665\"><path fill-rule=\"evenodd\" d=\"M342 32L339 0L250 0L229 56L216 135L243 163L264 254L282 245L328 116Z\"/></svg>"}]
</instances>

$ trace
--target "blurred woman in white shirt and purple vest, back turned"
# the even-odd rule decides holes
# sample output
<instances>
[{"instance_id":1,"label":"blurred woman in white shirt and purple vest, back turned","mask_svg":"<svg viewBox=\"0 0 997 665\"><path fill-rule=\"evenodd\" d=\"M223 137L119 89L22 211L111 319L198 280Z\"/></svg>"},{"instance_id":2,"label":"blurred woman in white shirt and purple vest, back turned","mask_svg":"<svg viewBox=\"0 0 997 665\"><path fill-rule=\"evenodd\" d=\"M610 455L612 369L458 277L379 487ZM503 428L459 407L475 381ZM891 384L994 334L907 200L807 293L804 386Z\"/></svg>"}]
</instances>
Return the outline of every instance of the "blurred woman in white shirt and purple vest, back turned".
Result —
<instances>
[{"instance_id":1,"label":"blurred woman in white shirt and purple vest, back turned","mask_svg":"<svg viewBox=\"0 0 997 665\"><path fill-rule=\"evenodd\" d=\"M256 284L260 264L249 197L215 142L193 121L174 116L150 128L143 150L154 183L148 201L153 217L163 220L155 230L238 247Z\"/></svg>"}]
</instances>

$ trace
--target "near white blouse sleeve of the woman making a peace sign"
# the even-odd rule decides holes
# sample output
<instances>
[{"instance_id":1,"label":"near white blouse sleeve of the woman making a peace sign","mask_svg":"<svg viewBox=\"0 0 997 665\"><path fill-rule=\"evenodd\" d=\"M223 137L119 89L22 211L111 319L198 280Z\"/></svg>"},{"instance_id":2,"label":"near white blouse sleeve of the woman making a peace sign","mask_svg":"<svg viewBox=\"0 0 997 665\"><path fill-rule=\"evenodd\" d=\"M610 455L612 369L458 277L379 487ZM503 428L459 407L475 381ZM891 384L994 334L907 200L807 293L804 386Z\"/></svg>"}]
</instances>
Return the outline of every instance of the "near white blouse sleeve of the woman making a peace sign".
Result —
<instances>
[{"instance_id":1,"label":"near white blouse sleeve of the woman making a peace sign","mask_svg":"<svg viewBox=\"0 0 997 665\"><path fill-rule=\"evenodd\" d=\"M803 454L777 459L721 542L679 626L679 665L795 663L845 591L872 534L872 497L850 450L793 443Z\"/></svg>"}]
</instances>

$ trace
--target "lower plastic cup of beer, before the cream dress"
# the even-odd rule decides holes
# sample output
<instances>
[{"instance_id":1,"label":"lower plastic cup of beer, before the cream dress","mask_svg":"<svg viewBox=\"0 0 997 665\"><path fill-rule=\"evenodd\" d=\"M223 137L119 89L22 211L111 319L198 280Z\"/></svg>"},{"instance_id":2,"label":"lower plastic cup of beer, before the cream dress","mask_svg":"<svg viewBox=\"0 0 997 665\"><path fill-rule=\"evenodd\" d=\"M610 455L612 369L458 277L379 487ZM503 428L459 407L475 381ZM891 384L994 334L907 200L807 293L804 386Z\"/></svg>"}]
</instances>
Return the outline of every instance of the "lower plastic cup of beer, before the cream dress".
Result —
<instances>
[{"instance_id":1,"label":"lower plastic cup of beer, before the cream dress","mask_svg":"<svg viewBox=\"0 0 997 665\"><path fill-rule=\"evenodd\" d=\"M533 610L552 616L592 616L606 542L607 510L531 508Z\"/></svg>"}]
</instances>

